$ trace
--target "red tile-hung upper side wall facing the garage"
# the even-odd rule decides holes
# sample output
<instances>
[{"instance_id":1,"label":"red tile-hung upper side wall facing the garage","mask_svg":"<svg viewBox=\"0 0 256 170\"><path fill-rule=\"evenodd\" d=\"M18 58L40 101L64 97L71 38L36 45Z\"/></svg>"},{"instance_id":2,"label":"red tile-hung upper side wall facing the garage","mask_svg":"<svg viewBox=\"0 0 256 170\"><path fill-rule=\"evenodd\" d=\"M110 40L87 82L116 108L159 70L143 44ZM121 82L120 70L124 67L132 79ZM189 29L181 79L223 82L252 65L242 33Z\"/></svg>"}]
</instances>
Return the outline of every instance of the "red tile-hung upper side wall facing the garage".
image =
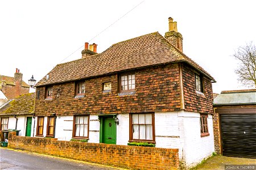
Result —
<instances>
[{"instance_id":1,"label":"red tile-hung upper side wall facing the garage","mask_svg":"<svg viewBox=\"0 0 256 170\"><path fill-rule=\"evenodd\" d=\"M213 113L212 82L203 77L204 95L196 93L195 71L187 64L182 65L185 111Z\"/></svg>"}]
</instances>

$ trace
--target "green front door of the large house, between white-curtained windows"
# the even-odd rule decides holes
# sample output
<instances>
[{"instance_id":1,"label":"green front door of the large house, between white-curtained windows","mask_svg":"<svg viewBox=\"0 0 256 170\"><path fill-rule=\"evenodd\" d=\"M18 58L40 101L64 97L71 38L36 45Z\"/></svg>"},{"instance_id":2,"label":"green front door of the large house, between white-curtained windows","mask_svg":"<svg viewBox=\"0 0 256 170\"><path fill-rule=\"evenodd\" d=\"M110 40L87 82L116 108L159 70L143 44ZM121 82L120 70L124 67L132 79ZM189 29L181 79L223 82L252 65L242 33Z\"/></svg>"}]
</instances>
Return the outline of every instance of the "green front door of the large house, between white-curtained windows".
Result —
<instances>
[{"instance_id":1,"label":"green front door of the large house, between white-curtained windows","mask_svg":"<svg viewBox=\"0 0 256 170\"><path fill-rule=\"evenodd\" d=\"M117 125L113 117L102 117L102 143L115 144L117 142Z\"/></svg>"}]
</instances>

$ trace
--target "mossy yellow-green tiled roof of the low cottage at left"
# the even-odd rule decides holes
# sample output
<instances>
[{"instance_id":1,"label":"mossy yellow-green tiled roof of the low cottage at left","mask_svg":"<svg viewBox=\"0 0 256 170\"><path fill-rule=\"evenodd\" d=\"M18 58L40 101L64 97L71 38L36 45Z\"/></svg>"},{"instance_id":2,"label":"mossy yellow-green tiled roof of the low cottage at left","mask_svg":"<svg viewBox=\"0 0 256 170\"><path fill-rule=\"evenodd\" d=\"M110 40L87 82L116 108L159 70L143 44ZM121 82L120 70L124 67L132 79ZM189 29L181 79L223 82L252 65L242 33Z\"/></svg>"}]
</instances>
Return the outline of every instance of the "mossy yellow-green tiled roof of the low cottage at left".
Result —
<instances>
[{"instance_id":1,"label":"mossy yellow-green tiled roof of the low cottage at left","mask_svg":"<svg viewBox=\"0 0 256 170\"><path fill-rule=\"evenodd\" d=\"M19 95L4 107L0 108L0 116L24 115L34 113L35 93Z\"/></svg>"}]
</instances>

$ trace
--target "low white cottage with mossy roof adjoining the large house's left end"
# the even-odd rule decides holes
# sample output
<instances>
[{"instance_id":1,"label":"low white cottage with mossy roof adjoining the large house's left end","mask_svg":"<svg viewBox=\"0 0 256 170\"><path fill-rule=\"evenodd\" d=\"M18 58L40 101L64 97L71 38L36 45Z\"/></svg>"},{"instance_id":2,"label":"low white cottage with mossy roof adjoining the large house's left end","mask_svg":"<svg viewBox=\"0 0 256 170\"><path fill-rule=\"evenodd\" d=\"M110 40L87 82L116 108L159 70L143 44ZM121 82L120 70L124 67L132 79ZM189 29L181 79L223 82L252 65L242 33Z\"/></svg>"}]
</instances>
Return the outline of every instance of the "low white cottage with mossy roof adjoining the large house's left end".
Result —
<instances>
[{"instance_id":1,"label":"low white cottage with mossy roof adjoining the large house's left end","mask_svg":"<svg viewBox=\"0 0 256 170\"><path fill-rule=\"evenodd\" d=\"M20 130L20 136L33 136L34 106L35 93L19 95L7 101L0 108L0 130L16 129Z\"/></svg>"}]
</instances>

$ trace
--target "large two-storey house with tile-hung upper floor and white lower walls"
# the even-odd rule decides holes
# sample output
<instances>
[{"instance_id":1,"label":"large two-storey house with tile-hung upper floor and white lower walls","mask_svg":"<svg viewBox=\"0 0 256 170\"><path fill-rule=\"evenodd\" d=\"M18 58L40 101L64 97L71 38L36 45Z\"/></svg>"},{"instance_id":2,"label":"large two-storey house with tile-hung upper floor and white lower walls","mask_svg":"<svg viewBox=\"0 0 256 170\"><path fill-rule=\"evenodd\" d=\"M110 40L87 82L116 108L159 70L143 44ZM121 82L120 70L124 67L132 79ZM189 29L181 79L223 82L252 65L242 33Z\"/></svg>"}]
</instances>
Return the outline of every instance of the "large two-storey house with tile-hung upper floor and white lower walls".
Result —
<instances>
[{"instance_id":1,"label":"large two-storey house with tile-hung upper floor and white lower walls","mask_svg":"<svg viewBox=\"0 0 256 170\"><path fill-rule=\"evenodd\" d=\"M155 143L179 148L188 166L214 152L214 78L185 56L169 31L118 42L102 53L85 43L82 58L56 65L36 85L36 137L93 143ZM89 46L89 48L88 48Z\"/></svg>"}]
</instances>

